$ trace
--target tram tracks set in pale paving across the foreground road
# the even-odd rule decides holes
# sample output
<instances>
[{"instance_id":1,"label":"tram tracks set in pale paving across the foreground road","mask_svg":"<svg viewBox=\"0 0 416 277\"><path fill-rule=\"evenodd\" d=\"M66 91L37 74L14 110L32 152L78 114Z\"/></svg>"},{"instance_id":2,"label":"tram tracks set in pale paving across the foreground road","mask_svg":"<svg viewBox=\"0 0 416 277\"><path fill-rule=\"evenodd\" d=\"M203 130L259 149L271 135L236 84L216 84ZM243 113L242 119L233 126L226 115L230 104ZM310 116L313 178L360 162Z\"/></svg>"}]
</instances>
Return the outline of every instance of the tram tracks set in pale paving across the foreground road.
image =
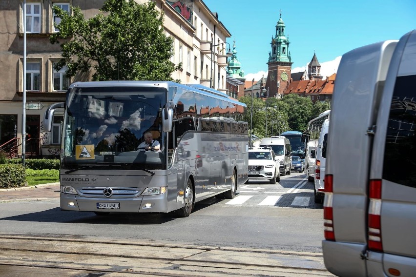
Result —
<instances>
[{"instance_id":1,"label":"tram tracks set in pale paving across the foreground road","mask_svg":"<svg viewBox=\"0 0 416 277\"><path fill-rule=\"evenodd\" d=\"M0 236L0 250L0 269L103 276L332 276L319 253L18 236Z\"/></svg>"}]
</instances>

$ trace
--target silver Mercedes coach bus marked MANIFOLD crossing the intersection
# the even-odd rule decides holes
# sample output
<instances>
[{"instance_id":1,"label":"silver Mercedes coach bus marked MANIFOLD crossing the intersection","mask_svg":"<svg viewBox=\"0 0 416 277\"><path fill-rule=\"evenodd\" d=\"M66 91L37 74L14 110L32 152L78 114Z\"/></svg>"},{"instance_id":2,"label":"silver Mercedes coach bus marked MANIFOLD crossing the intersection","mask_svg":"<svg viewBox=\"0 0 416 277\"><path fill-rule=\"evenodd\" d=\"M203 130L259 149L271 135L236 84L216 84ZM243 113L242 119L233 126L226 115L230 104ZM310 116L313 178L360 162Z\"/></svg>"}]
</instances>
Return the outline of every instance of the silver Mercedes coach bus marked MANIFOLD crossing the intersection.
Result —
<instances>
[{"instance_id":1,"label":"silver Mercedes coach bus marked MANIFOLD crossing the intersection","mask_svg":"<svg viewBox=\"0 0 416 277\"><path fill-rule=\"evenodd\" d=\"M170 81L73 83L64 108L61 209L168 213L234 198L248 179L246 105L202 85ZM150 147L139 144L150 132Z\"/></svg>"}]
</instances>

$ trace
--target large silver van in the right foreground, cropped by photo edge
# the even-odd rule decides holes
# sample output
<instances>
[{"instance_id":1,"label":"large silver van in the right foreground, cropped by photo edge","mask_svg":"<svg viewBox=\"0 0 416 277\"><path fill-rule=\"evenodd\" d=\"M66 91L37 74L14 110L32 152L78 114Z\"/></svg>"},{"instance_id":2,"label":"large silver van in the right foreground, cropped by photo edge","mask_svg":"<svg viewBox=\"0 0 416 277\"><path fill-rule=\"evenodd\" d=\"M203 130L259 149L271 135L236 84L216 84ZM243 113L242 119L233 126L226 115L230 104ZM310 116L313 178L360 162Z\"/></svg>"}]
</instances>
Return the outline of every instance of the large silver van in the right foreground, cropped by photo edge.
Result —
<instances>
[{"instance_id":1,"label":"large silver van in the right foreground, cropped by photo edge","mask_svg":"<svg viewBox=\"0 0 416 277\"><path fill-rule=\"evenodd\" d=\"M342 56L322 250L341 277L416 276L416 30Z\"/></svg>"}]
</instances>

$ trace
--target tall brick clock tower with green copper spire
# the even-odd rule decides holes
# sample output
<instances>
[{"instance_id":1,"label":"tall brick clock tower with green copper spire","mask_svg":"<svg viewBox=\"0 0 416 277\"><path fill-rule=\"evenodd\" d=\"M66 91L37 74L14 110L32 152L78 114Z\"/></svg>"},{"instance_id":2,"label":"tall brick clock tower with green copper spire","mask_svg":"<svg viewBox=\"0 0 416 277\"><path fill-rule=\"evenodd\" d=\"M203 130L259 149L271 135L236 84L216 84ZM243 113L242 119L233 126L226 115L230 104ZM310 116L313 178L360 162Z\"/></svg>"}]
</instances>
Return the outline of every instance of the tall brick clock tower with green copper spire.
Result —
<instances>
[{"instance_id":1,"label":"tall brick clock tower with green copper spire","mask_svg":"<svg viewBox=\"0 0 416 277\"><path fill-rule=\"evenodd\" d=\"M267 75L266 89L269 89L269 97L283 94L291 81L291 52L289 51L289 36L285 35L285 22L280 19L276 24L276 33L271 37L271 52L269 52L269 71Z\"/></svg>"}]
</instances>

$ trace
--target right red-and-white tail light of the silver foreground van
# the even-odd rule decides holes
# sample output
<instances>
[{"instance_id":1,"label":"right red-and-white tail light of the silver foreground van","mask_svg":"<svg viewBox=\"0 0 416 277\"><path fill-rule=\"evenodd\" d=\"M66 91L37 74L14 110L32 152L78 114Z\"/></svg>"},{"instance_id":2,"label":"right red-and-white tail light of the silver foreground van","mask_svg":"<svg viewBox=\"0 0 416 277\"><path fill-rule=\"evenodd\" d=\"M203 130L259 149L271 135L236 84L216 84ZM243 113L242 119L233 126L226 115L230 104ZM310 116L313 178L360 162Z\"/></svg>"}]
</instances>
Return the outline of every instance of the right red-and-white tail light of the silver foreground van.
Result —
<instances>
[{"instance_id":1,"label":"right red-and-white tail light of the silver foreground van","mask_svg":"<svg viewBox=\"0 0 416 277\"><path fill-rule=\"evenodd\" d=\"M383 252L381 240L381 180L370 180L368 208L368 248Z\"/></svg>"}]
</instances>

